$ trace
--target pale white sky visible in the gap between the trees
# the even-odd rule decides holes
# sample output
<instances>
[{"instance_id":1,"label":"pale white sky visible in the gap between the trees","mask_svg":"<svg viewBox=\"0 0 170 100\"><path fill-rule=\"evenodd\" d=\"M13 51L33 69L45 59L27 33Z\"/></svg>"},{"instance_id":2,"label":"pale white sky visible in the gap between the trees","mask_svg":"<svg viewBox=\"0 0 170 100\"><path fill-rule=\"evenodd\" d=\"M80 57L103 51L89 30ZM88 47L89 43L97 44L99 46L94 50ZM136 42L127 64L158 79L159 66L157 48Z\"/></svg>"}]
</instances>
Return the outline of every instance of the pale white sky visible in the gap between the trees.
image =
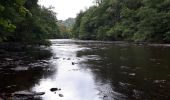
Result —
<instances>
[{"instance_id":1,"label":"pale white sky visible in the gap between the trees","mask_svg":"<svg viewBox=\"0 0 170 100\"><path fill-rule=\"evenodd\" d=\"M39 0L40 5L55 7L57 19L65 20L69 17L75 18L81 11L93 5L93 0Z\"/></svg>"}]
</instances>

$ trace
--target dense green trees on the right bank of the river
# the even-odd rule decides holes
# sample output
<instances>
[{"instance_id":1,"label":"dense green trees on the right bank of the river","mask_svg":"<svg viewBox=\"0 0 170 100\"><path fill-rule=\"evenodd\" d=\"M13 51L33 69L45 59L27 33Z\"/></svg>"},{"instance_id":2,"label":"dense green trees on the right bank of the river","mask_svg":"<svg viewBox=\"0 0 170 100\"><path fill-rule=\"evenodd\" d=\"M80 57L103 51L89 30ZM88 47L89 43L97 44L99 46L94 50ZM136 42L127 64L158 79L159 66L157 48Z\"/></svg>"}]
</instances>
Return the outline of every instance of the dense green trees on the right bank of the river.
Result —
<instances>
[{"instance_id":1,"label":"dense green trees on the right bank of the river","mask_svg":"<svg viewBox=\"0 0 170 100\"><path fill-rule=\"evenodd\" d=\"M170 0L96 0L76 18L74 38L170 42Z\"/></svg>"}]
</instances>

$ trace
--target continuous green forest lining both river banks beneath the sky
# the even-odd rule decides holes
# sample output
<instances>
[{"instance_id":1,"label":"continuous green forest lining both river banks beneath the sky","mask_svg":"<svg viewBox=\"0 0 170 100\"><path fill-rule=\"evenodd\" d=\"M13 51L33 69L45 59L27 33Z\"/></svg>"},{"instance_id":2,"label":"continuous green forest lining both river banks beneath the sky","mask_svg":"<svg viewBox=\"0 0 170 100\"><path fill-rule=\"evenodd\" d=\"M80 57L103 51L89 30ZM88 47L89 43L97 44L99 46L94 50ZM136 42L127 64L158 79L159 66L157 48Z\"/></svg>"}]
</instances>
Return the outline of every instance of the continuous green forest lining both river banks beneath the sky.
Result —
<instances>
[{"instance_id":1,"label":"continuous green forest lining both river banks beneath the sky","mask_svg":"<svg viewBox=\"0 0 170 100\"><path fill-rule=\"evenodd\" d=\"M133 42L170 42L170 0L95 0L77 17L60 21L38 0L0 1L0 42L45 44L76 38Z\"/></svg>"}]
</instances>

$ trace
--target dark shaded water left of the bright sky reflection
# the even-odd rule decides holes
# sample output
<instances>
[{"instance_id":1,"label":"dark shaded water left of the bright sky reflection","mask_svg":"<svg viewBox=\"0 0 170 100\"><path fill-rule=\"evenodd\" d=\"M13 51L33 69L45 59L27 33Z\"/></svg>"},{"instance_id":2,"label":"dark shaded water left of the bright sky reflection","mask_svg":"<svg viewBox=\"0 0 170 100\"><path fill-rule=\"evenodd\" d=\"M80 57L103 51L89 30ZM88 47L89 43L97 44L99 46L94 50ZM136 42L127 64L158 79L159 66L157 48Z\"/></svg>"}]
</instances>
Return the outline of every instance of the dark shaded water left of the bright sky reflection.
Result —
<instances>
[{"instance_id":1,"label":"dark shaded water left of the bright sky reflection","mask_svg":"<svg viewBox=\"0 0 170 100\"><path fill-rule=\"evenodd\" d=\"M52 53L49 47L30 46L21 43L0 44L0 98L2 100L20 100L15 92L27 90L49 69ZM50 72L50 71L49 71ZM22 96L21 96L22 97ZM29 97L33 97L30 96Z\"/></svg>"}]
</instances>

